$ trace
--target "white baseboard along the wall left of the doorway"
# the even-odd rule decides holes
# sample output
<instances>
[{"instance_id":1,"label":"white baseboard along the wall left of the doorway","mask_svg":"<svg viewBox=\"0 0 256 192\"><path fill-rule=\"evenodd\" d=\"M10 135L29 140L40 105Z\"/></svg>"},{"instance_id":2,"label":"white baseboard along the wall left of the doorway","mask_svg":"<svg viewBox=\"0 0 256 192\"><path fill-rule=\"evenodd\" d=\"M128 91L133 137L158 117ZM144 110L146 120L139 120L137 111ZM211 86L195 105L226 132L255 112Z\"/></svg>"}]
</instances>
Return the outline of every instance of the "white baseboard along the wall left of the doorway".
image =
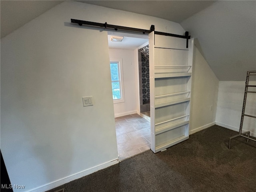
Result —
<instances>
[{"instance_id":1,"label":"white baseboard along the wall left of the doorway","mask_svg":"<svg viewBox=\"0 0 256 192\"><path fill-rule=\"evenodd\" d=\"M71 176L68 176L66 178L63 178L63 179L60 179L60 180L57 180L55 182L52 182L52 183L49 183L49 184L46 184L44 186L40 186L38 188L34 188L32 190L29 190L27 192L45 192L45 191L48 191L48 190L51 190L51 189L54 189L56 187L59 187L63 184L66 184L68 182L71 182L71 181L74 181L76 179L79 179L79 178L82 178L84 176L87 176L87 175L90 175L98 170L101 170L101 169L104 169L104 168L107 168L109 166L112 166L114 164L118 164L119 160L116 159L116 160L113 160L113 161L110 161L108 163L104 163L104 164L101 164L99 166L96 166L96 167L93 167L93 168L90 168L88 170L84 170L82 172L79 172L79 173L76 173L76 174L73 174Z\"/></svg>"}]
</instances>

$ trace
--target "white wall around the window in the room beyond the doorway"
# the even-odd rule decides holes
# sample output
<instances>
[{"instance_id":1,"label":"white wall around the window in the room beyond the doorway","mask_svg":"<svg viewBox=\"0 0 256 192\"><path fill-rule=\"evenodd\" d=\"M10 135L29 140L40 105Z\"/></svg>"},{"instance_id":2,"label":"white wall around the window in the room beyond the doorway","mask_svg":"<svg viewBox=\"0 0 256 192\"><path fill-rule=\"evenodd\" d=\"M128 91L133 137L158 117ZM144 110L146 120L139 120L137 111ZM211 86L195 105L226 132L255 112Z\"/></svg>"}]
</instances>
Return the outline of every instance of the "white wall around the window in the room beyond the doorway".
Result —
<instances>
[{"instance_id":1,"label":"white wall around the window in the room beyond the doorway","mask_svg":"<svg viewBox=\"0 0 256 192\"><path fill-rule=\"evenodd\" d=\"M110 58L122 58L125 102L114 104L115 117L137 113L134 51L109 49Z\"/></svg>"}]
</instances>

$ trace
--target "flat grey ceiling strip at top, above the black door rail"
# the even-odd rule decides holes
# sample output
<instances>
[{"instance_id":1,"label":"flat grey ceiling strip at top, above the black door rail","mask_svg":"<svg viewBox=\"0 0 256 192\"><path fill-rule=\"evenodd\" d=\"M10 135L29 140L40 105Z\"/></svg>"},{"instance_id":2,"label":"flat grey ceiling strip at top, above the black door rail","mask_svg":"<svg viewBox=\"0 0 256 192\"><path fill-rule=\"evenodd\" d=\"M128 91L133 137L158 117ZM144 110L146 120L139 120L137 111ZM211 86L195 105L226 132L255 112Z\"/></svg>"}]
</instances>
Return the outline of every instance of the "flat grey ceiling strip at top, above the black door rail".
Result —
<instances>
[{"instance_id":1,"label":"flat grey ceiling strip at top, above the black door rail","mask_svg":"<svg viewBox=\"0 0 256 192\"><path fill-rule=\"evenodd\" d=\"M78 2L154 16L176 23L205 9L215 1L202 0L77 0Z\"/></svg>"}]
</instances>

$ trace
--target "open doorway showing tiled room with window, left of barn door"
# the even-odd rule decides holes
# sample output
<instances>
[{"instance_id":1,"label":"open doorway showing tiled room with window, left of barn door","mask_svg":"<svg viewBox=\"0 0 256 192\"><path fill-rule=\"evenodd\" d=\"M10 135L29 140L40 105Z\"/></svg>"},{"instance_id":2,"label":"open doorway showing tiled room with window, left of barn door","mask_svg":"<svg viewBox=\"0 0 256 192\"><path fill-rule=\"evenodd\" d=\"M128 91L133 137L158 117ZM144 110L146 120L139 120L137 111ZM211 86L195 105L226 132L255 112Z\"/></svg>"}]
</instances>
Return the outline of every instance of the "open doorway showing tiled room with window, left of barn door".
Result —
<instances>
[{"instance_id":1,"label":"open doorway showing tiled room with window, left of barn door","mask_svg":"<svg viewBox=\"0 0 256 192\"><path fill-rule=\"evenodd\" d=\"M117 41L118 37L123 37L121 42ZM110 41L111 39L115 40ZM148 35L108 32L108 43L110 63L119 61L120 66L119 69L113 68L113 72L110 72L113 73L115 84L112 86L112 93L116 138L119 160L122 161L150 150L150 117L142 114L149 111ZM118 81L119 86L116 85ZM148 91L145 91L146 89ZM114 99L120 98L114 96L116 92L118 96L122 95L122 101ZM148 98L148 108L145 107L145 98Z\"/></svg>"}]
</instances>

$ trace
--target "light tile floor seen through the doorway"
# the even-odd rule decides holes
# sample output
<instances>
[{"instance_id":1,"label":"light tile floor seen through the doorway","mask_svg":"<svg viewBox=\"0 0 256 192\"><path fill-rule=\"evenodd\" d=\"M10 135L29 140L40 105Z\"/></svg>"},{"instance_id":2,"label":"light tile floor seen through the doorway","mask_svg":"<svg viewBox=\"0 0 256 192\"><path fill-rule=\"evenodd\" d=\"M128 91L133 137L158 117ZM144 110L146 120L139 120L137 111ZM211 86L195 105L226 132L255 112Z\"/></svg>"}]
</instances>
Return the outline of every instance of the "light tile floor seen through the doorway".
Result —
<instances>
[{"instance_id":1,"label":"light tile floor seen through the doorway","mask_svg":"<svg viewBox=\"0 0 256 192\"><path fill-rule=\"evenodd\" d=\"M115 118L119 160L150 149L150 122L138 114Z\"/></svg>"}]
</instances>

